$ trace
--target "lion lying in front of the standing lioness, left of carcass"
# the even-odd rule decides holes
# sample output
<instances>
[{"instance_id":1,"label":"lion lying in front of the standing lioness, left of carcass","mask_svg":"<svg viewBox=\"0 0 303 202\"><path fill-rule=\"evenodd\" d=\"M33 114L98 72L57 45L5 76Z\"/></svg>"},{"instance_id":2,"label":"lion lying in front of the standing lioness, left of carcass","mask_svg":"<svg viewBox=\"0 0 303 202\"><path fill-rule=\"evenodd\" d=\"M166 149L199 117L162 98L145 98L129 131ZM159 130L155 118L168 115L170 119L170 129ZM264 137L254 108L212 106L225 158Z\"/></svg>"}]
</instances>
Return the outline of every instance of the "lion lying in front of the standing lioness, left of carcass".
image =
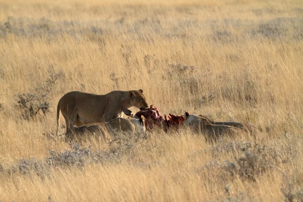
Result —
<instances>
[{"instance_id":1,"label":"lion lying in front of the standing lioness, left of carcass","mask_svg":"<svg viewBox=\"0 0 303 202\"><path fill-rule=\"evenodd\" d=\"M66 133L67 138L72 138L73 136L83 137L84 134L91 134L111 140L115 138L116 132L144 132L144 117L141 116L140 119L118 117L108 122L89 123L79 127L73 126L71 131Z\"/></svg>"}]
</instances>

